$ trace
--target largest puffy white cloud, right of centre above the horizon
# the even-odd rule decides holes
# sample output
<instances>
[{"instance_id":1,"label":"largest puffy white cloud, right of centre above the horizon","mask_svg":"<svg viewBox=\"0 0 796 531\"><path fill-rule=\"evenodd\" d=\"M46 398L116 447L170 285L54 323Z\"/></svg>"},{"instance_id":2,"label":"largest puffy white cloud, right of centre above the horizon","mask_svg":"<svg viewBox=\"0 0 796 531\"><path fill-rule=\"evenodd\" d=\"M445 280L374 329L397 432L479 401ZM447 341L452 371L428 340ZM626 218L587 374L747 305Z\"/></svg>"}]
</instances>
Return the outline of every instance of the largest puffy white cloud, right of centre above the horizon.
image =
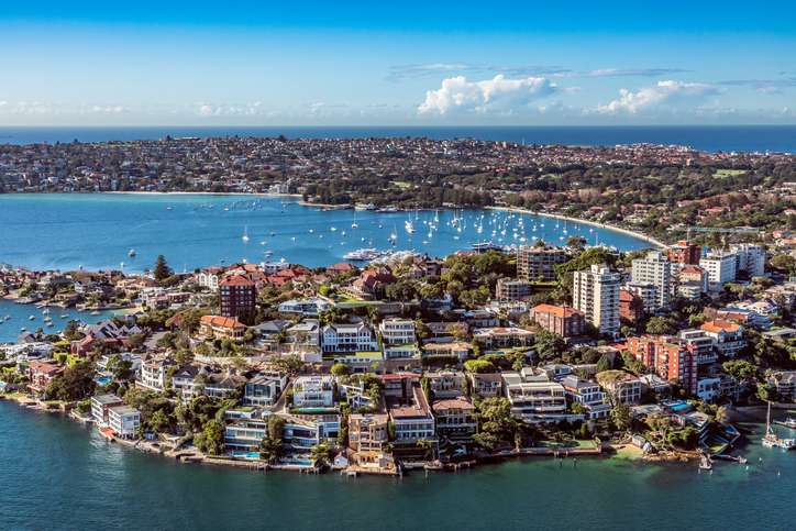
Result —
<instances>
[{"instance_id":1,"label":"largest puffy white cloud, right of centre above the horizon","mask_svg":"<svg viewBox=\"0 0 796 531\"><path fill-rule=\"evenodd\" d=\"M427 91L418 112L436 115L454 112L511 114L557 90L559 87L544 77L506 79L497 75L484 81L468 81L464 76L456 76L443 79L439 89Z\"/></svg>"}]
</instances>

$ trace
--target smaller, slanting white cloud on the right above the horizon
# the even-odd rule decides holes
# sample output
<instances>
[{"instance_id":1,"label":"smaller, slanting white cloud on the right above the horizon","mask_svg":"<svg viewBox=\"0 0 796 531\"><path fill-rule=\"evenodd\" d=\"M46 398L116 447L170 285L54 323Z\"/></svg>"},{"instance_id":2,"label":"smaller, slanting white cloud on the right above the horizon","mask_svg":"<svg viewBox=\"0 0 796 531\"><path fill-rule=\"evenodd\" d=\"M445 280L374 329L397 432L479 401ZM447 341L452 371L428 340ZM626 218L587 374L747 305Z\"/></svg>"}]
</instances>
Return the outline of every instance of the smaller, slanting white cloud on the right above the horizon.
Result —
<instances>
[{"instance_id":1,"label":"smaller, slanting white cloud on the right above the horizon","mask_svg":"<svg viewBox=\"0 0 796 531\"><path fill-rule=\"evenodd\" d=\"M673 104L684 100L700 100L707 96L718 93L720 93L720 90L712 85L673 80L657 81L656 85L641 88L635 92L624 88L620 89L619 99L598 106L597 112L604 114L618 112L635 114L645 109Z\"/></svg>"}]
</instances>

